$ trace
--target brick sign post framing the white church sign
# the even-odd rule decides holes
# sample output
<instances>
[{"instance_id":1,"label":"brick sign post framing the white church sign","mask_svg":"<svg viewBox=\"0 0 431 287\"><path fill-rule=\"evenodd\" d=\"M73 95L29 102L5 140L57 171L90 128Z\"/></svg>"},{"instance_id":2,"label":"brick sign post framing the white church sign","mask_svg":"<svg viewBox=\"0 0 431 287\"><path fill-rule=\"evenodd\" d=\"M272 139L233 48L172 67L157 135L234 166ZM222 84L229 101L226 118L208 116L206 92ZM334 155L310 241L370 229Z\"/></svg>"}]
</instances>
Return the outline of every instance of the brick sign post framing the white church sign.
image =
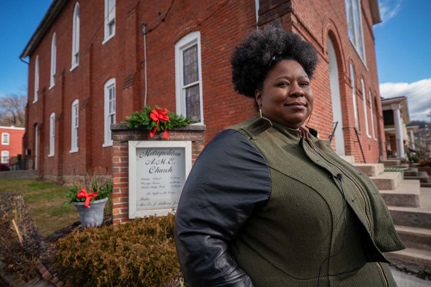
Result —
<instances>
[{"instance_id":1,"label":"brick sign post framing the white church sign","mask_svg":"<svg viewBox=\"0 0 431 287\"><path fill-rule=\"evenodd\" d=\"M203 125L188 125L169 130L169 139L162 133L151 138L150 131L129 129L125 124L111 124L112 130L112 222L114 225L129 219L129 141L191 141L192 164L204 147ZM133 172L133 171L131 171Z\"/></svg>"}]
</instances>

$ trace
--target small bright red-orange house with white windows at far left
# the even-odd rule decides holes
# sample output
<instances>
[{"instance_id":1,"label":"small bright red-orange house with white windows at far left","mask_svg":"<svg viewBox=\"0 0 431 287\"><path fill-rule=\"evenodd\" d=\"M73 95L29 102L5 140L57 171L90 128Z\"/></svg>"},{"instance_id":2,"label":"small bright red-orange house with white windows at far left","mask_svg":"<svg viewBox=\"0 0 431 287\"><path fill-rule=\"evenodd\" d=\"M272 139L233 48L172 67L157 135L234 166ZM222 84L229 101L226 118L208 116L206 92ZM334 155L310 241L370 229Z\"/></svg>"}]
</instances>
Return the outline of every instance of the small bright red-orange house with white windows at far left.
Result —
<instances>
[{"instance_id":1,"label":"small bright red-orange house with white windows at far left","mask_svg":"<svg viewBox=\"0 0 431 287\"><path fill-rule=\"evenodd\" d=\"M10 164L10 158L22 154L23 127L0 126L0 164Z\"/></svg>"}]
</instances>

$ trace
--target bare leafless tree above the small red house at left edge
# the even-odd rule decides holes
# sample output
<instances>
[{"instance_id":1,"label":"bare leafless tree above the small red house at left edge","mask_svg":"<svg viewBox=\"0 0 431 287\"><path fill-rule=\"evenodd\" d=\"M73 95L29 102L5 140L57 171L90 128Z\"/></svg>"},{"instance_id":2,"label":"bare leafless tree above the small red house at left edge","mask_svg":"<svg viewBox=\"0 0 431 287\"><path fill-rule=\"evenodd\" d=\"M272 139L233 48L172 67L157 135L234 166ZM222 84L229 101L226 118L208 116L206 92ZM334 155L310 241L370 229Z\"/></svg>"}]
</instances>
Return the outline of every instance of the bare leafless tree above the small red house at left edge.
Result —
<instances>
[{"instance_id":1,"label":"bare leafless tree above the small red house at left edge","mask_svg":"<svg viewBox=\"0 0 431 287\"><path fill-rule=\"evenodd\" d=\"M27 95L14 93L0 97L0 126L25 127Z\"/></svg>"}]
</instances>

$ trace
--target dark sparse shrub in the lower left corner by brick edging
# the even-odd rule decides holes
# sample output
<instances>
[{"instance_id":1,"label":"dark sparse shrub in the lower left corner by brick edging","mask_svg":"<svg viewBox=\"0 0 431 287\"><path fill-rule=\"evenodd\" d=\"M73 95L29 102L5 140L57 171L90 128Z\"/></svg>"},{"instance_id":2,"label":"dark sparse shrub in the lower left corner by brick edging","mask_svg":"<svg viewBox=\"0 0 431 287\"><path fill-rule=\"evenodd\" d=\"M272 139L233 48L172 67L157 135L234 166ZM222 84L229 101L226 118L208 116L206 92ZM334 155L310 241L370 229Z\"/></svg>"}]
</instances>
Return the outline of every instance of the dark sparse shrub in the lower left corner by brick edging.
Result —
<instances>
[{"instance_id":1,"label":"dark sparse shrub in the lower left corner by brick edging","mask_svg":"<svg viewBox=\"0 0 431 287\"><path fill-rule=\"evenodd\" d=\"M0 193L0 261L6 263L6 272L21 281L33 279L39 274L36 262L45 251L43 238L28 214L24 198L14 193Z\"/></svg>"}]
</instances>

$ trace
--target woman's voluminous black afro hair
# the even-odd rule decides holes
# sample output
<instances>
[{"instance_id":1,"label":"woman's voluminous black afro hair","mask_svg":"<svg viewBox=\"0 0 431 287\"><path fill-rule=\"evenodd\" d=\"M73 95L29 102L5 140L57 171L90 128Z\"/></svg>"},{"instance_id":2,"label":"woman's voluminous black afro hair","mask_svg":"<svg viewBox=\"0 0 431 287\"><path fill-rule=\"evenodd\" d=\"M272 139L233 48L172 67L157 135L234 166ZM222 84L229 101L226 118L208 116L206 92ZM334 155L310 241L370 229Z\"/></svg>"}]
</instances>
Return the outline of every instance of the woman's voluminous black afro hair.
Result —
<instances>
[{"instance_id":1,"label":"woman's voluminous black afro hair","mask_svg":"<svg viewBox=\"0 0 431 287\"><path fill-rule=\"evenodd\" d=\"M282 60L297 61L310 79L319 64L312 43L292 31L284 31L278 19L265 25L263 31L253 29L232 53L235 91L254 98L255 90L262 87L268 72Z\"/></svg>"}]
</instances>

